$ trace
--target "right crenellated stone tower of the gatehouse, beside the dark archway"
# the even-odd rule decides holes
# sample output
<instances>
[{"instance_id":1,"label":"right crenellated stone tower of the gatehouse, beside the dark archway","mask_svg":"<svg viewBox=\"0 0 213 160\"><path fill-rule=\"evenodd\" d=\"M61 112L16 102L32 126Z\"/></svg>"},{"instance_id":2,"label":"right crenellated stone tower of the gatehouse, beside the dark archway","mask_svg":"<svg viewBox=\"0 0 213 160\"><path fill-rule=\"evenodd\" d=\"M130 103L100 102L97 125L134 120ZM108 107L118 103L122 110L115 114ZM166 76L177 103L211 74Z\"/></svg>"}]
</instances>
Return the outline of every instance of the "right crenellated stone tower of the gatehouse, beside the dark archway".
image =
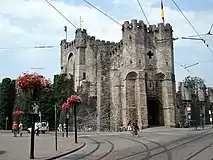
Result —
<instances>
[{"instance_id":1,"label":"right crenellated stone tower of the gatehouse, beside the dark archway","mask_svg":"<svg viewBox=\"0 0 213 160\"><path fill-rule=\"evenodd\" d=\"M173 30L170 24L158 24L154 32L156 43L156 66L158 79L161 82L161 124L175 124L176 85L174 74ZM157 77L156 77L157 78ZM157 80L159 82L159 80Z\"/></svg>"}]
</instances>

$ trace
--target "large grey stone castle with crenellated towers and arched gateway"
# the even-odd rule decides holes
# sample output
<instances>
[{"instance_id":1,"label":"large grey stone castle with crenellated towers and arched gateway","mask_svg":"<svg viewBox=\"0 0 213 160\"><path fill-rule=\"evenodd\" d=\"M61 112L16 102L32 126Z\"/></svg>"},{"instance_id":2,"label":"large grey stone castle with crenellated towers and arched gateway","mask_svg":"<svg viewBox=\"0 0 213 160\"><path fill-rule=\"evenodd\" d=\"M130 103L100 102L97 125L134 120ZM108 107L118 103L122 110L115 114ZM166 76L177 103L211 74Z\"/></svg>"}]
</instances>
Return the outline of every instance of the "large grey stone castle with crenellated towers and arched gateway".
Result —
<instances>
[{"instance_id":1,"label":"large grey stone castle with crenellated towers and arched gateway","mask_svg":"<svg viewBox=\"0 0 213 160\"><path fill-rule=\"evenodd\" d=\"M97 40L85 29L77 29L72 42L61 41L61 73L74 76L76 91L88 84L98 130L118 130L129 121L146 128L149 117L157 125L175 124L172 32L170 24L131 20L122 25L118 43Z\"/></svg>"}]
</instances>

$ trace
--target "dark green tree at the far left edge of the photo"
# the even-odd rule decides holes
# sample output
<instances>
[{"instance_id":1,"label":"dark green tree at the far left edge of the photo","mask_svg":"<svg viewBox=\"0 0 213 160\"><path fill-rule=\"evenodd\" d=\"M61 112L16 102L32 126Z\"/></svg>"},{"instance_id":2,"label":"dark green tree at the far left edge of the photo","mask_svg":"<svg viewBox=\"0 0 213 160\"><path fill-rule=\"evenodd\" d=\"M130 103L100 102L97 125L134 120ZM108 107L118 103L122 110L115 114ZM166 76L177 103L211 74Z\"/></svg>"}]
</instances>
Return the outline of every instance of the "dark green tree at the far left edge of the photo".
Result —
<instances>
[{"instance_id":1,"label":"dark green tree at the far left edge of the photo","mask_svg":"<svg viewBox=\"0 0 213 160\"><path fill-rule=\"evenodd\" d=\"M0 85L0 128L5 128L6 117L8 117L8 127L11 127L15 98L15 80L4 78Z\"/></svg>"}]
</instances>

